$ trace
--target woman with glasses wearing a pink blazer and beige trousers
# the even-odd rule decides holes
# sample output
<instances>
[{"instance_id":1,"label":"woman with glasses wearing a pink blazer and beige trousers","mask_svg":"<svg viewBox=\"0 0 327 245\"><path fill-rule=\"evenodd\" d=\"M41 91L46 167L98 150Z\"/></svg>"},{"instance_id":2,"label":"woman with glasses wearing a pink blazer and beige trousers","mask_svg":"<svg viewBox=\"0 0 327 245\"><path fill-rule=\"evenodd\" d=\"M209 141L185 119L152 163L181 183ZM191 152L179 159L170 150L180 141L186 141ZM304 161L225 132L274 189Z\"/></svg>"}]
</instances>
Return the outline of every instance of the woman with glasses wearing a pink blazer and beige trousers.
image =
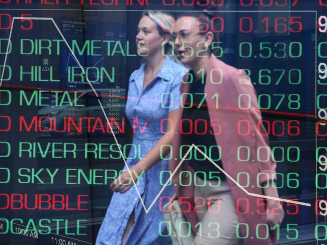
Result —
<instances>
[{"instance_id":1,"label":"woman with glasses wearing a pink blazer and beige trousers","mask_svg":"<svg viewBox=\"0 0 327 245\"><path fill-rule=\"evenodd\" d=\"M220 166L229 175L227 177L225 174L220 176L221 183L225 183L224 188L227 188L227 190L219 190L220 193L217 196L220 199L218 200L211 196L211 200L221 200L222 203L224 195L221 195L221 193L229 193L228 195L231 196L230 199L233 201L233 204L230 204L229 201L229 204L223 209L223 204L219 203L221 205L220 216L217 216L219 220L213 220L215 214L208 211L206 192L197 190L197 187L194 185L195 178L193 177L195 170L194 167L190 166L190 161L184 161L180 165L178 171L173 176L173 185L175 186L177 197L183 200L180 201L181 210L191 210L184 214L191 223L193 231L197 232L194 244L239 244L241 242L243 244L272 244L277 242L278 228L276 228L276 225L280 224L284 217L281 203L272 199L265 201L263 198L251 195L251 193L254 193L278 198L278 192L272 186L273 181L276 181L276 175L274 175L276 163L272 160L268 137L259 135L256 130L258 121L262 119L256 90L244 71L229 66L211 55L212 49L217 45L212 43L214 35L210 31L212 30L210 24L208 16L201 13L189 12L181 16L175 23L175 52L177 52L180 61L190 68L190 74L192 74L192 78L184 79L181 86L182 93L187 93L190 96L190 93L192 93L190 92L192 81L194 82L205 77L205 83L203 81L193 89L196 91L201 84L204 84L203 92L197 93L201 96L206 96L201 101L201 104L207 107L207 112L205 113L208 114L207 126L210 128L204 128L205 130L211 130L210 134L213 136L216 146L220 146ZM200 55L196 57L196 54ZM201 69L203 70L201 71ZM179 121L185 117L185 108L192 106L192 104L186 101L192 101L193 103L193 98L190 100L187 96L183 96L183 103L187 105L183 106L184 109L181 108ZM188 130L195 132L194 125L194 123L191 126L188 125ZM184 127L183 124L178 124L175 129L176 137L172 144L173 153L169 163L170 171L172 172L181 162L180 146L183 144L183 137L185 135L181 134L181 132L185 132L182 127ZM190 127L193 127L193 129ZM264 127L261 125L261 132L264 132L264 130ZM205 135L202 141L206 139L210 141L209 135ZM198 141L201 141L201 139L198 139ZM192 145L190 141L189 145ZM266 154L262 153L260 155L260 159L269 159L268 161L258 161L257 149L259 147L269 149L261 151L266 152ZM194 151L196 149L193 149L193 158ZM193 162L194 164L196 165ZM217 167L213 167L216 171L219 171ZM212 169L208 164L204 168ZM181 171L185 172L181 173ZM183 184L183 181L187 180L186 182L188 182L188 178L191 178L192 184ZM232 181L231 178L235 181ZM258 184L257 178L259 180ZM207 181L204 180L204 182L210 183L209 179L207 177ZM236 185L236 181L241 186L244 186L243 190ZM214 185L210 184L210 186ZM260 186L265 186L265 188ZM215 189L215 187L208 187L208 184L200 188L208 192ZM205 188L211 189L207 190ZM221 185L216 189L218 188L221 188ZM202 204L204 202L201 195L205 198L206 208L201 209L201 212L194 212L196 202L198 200L202 200ZM228 195L226 195L226 198ZM185 197L189 201L185 202ZM274 212L272 212L272 209L274 209ZM208 227L204 227L204 223L199 225L199 222L203 221L205 216L211 219L209 223L211 227L209 228L211 230L216 229L219 233L208 235L206 231ZM213 225L213 221L219 223L218 227ZM201 231L199 230L200 227ZM235 239L236 236L238 237L237 239Z\"/></svg>"}]
</instances>

